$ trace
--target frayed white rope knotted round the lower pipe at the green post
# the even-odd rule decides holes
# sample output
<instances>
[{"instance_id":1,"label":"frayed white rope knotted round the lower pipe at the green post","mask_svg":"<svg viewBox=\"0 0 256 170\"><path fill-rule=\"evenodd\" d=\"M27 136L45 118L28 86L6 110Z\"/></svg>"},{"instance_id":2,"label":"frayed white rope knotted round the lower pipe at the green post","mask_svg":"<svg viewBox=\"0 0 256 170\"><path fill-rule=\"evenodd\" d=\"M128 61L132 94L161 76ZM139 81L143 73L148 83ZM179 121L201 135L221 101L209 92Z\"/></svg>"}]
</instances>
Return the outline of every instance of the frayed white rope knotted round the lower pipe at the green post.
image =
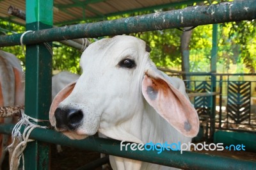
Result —
<instances>
[{"instance_id":1,"label":"frayed white rope knotted round the lower pipe at the green post","mask_svg":"<svg viewBox=\"0 0 256 170\"><path fill-rule=\"evenodd\" d=\"M20 121L15 125L12 130L12 144L10 144L7 148L9 153L12 153L11 162L10 162L10 170L16 170L19 167L20 157L22 156L23 167L25 169L25 162L24 162L24 154L23 151L25 150L27 143L34 141L33 139L29 139L29 135L35 128L47 128L42 127L40 125L36 125L29 120L33 120L35 122L40 121L48 121L48 120L37 120L35 118L31 118L30 116L26 115L24 111L21 111L22 118ZM23 134L20 133L20 128L25 125L25 129ZM17 144L18 143L18 144ZM13 150L14 148L14 150Z\"/></svg>"}]
</instances>

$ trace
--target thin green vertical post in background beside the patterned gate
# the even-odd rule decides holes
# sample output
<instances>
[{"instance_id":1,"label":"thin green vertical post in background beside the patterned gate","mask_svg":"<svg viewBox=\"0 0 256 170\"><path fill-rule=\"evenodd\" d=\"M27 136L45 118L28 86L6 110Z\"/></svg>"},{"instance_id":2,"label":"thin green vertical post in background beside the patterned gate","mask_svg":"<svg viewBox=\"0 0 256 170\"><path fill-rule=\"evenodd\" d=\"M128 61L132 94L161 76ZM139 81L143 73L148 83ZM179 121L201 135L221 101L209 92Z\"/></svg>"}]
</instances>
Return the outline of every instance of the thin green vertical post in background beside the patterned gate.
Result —
<instances>
[{"instance_id":1,"label":"thin green vertical post in background beside the patterned gate","mask_svg":"<svg viewBox=\"0 0 256 170\"><path fill-rule=\"evenodd\" d=\"M218 24L212 25L212 51L211 51L211 91L216 92L216 72L217 72L217 52L218 52ZM211 122L210 122L210 141L213 140L215 132L215 109L216 96L211 97Z\"/></svg>"}]
</instances>

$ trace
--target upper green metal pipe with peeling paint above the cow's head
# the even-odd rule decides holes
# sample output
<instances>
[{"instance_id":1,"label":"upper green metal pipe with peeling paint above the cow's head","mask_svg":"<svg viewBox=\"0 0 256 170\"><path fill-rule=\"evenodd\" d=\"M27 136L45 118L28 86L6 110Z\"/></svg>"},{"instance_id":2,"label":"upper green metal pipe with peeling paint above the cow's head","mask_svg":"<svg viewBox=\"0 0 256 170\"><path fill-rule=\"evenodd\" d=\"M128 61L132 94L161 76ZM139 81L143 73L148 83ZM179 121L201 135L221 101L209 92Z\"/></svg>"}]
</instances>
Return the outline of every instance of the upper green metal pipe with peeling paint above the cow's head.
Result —
<instances>
[{"instance_id":1,"label":"upper green metal pipe with peeling paint above the cow's head","mask_svg":"<svg viewBox=\"0 0 256 170\"><path fill-rule=\"evenodd\" d=\"M93 38L252 19L256 19L255 0L240 0L208 6L191 6L182 10L157 12L124 19L33 31L24 35L23 43L33 44L85 37ZM20 36L21 34L0 36L0 47L20 45Z\"/></svg>"}]
</instances>

